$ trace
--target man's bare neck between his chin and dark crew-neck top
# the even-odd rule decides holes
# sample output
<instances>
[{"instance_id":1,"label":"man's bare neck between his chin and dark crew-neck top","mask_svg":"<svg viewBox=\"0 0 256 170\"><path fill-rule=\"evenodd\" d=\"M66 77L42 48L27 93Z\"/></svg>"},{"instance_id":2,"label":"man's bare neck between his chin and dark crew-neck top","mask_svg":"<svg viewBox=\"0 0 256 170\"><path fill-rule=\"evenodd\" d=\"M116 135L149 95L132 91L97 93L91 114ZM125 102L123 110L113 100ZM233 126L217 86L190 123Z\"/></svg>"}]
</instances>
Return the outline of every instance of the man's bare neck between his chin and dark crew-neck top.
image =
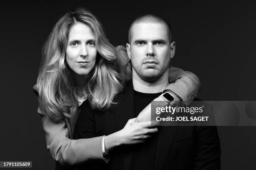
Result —
<instances>
[{"instance_id":1,"label":"man's bare neck between his chin and dark crew-neck top","mask_svg":"<svg viewBox=\"0 0 256 170\"><path fill-rule=\"evenodd\" d=\"M165 72L159 79L148 82L142 80L133 70L133 88L138 92L158 93L162 92L168 85L168 72Z\"/></svg>"}]
</instances>

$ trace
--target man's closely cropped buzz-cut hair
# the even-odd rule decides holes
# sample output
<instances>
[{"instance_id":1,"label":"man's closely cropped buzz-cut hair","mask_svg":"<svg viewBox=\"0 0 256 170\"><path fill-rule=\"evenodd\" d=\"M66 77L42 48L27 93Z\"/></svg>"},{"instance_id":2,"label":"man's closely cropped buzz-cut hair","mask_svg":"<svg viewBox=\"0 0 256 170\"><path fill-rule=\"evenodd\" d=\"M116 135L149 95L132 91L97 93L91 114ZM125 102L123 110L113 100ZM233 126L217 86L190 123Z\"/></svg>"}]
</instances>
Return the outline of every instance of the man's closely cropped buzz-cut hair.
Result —
<instances>
[{"instance_id":1,"label":"man's closely cropped buzz-cut hair","mask_svg":"<svg viewBox=\"0 0 256 170\"><path fill-rule=\"evenodd\" d=\"M133 23L131 24L129 31L128 31L128 40L129 43L131 44L131 39L132 39L132 29L133 29L133 25L134 24L138 24L138 23L163 23L166 28L167 28L167 33L169 34L169 42L172 42L172 28L171 25L164 20L164 18L161 18L157 15L153 15L153 14L147 14L147 15L143 15L139 18L136 18L136 20L133 21Z\"/></svg>"}]
</instances>

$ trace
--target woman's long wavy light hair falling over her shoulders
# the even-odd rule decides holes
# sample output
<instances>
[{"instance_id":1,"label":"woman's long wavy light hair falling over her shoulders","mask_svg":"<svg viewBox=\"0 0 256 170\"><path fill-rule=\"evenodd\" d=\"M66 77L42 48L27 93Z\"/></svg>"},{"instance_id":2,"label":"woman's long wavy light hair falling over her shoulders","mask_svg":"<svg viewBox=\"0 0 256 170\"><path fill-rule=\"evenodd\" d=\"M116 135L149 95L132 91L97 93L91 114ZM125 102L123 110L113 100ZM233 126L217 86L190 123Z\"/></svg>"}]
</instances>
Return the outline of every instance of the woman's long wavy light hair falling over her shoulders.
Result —
<instances>
[{"instance_id":1,"label":"woman's long wavy light hair falling over her shoulders","mask_svg":"<svg viewBox=\"0 0 256 170\"><path fill-rule=\"evenodd\" d=\"M77 8L66 13L56 23L42 50L42 61L37 79L41 108L53 120L70 117L77 106L77 87L65 60L69 30L75 23L88 25L95 35L97 57L86 87L92 108L110 107L123 88L123 79L115 71L115 48L108 41L100 21L88 10Z\"/></svg>"}]
</instances>

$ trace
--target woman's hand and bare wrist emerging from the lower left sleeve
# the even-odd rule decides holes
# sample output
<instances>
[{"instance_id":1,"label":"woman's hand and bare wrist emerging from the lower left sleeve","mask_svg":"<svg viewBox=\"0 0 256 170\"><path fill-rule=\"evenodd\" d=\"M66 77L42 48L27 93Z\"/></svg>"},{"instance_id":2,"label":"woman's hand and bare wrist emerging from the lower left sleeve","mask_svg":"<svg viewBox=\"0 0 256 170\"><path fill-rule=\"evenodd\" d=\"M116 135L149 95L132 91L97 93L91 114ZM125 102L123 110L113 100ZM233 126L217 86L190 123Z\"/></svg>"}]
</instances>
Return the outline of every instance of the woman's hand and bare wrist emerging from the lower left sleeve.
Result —
<instances>
[{"instance_id":1,"label":"woman's hand and bare wrist emerging from the lower left sleeve","mask_svg":"<svg viewBox=\"0 0 256 170\"><path fill-rule=\"evenodd\" d=\"M157 128L152 128L151 122L135 122L136 118L128 120L125 127L105 137L105 151L109 152L115 146L142 143L156 133Z\"/></svg>"}]
</instances>

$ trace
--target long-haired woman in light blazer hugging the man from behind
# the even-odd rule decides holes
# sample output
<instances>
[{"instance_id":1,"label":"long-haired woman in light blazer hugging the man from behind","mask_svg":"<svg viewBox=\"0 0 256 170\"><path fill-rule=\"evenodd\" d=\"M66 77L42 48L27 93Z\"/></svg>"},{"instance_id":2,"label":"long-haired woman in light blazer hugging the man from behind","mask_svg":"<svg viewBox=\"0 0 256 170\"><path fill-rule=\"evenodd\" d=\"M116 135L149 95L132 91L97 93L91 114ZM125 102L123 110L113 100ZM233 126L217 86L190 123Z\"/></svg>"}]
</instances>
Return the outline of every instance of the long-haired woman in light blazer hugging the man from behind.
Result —
<instances>
[{"instance_id":1,"label":"long-haired woman in light blazer hugging the man from behind","mask_svg":"<svg viewBox=\"0 0 256 170\"><path fill-rule=\"evenodd\" d=\"M72 140L72 133L78 106L84 100L88 100L92 108L105 109L115 102L115 95L122 90L123 77L115 70L113 61L118 59L116 63L121 63L119 68L123 68L126 59L122 51L118 50L118 58L115 53L99 20L84 8L65 14L46 40L34 90L38 94L38 113L41 115L47 148L60 165L103 159L103 136ZM199 81L190 72L178 70L175 73L172 77L179 80L169 88L187 100L187 93L198 91ZM182 87L187 87L189 83L195 86L183 91ZM141 120L144 117L141 116ZM129 126L129 132L123 131L125 133L120 140L136 136L137 140L125 143L140 143L145 140L145 131L147 137L157 131L148 127L148 122L133 123ZM108 150L113 147L105 146Z\"/></svg>"}]
</instances>

